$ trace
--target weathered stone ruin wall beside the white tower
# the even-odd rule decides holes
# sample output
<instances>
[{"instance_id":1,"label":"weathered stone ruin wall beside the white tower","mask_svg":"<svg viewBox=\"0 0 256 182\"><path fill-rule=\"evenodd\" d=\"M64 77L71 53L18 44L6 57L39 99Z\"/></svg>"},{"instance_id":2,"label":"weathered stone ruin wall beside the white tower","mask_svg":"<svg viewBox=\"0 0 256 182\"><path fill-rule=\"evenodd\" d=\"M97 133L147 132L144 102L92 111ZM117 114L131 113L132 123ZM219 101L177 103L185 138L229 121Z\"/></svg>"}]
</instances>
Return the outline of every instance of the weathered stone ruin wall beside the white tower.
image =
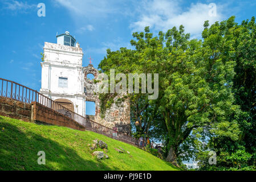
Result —
<instances>
[{"instance_id":1,"label":"weathered stone ruin wall beside the white tower","mask_svg":"<svg viewBox=\"0 0 256 182\"><path fill-rule=\"evenodd\" d=\"M96 94L99 88L99 82L95 83L94 80L89 80L87 75L91 73L94 75L94 79L97 79L99 72L97 69L93 68L91 64L83 68L84 73L84 86L86 87L86 101L95 102L95 116L86 115L86 117L94 120L101 125L107 126L111 129L113 127L117 128L117 131L123 132L125 134L131 135L130 126L130 104L129 100L122 102L121 104L116 104L115 101L119 97L114 98L114 103L112 106L105 111L105 117L100 117L100 100L99 96Z\"/></svg>"}]
</instances>

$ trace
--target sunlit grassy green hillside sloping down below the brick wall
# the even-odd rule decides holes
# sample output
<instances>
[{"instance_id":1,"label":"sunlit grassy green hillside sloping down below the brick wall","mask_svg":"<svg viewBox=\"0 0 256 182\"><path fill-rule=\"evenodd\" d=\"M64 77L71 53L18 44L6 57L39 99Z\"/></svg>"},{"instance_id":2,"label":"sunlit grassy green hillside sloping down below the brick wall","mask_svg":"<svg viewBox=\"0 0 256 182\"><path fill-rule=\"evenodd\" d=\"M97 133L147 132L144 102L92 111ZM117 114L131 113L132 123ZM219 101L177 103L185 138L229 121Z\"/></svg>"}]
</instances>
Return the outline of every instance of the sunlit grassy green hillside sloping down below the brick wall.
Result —
<instances>
[{"instance_id":1,"label":"sunlit grassy green hillside sloping down below the brick wall","mask_svg":"<svg viewBox=\"0 0 256 182\"><path fill-rule=\"evenodd\" d=\"M4 128L4 129L3 129ZM92 155L92 140L108 144L109 159ZM131 155L114 148L124 148ZM46 153L39 165L38 151ZM103 151L96 149L94 151ZM91 131L27 123L0 116L0 170L177 170L171 164L140 150Z\"/></svg>"}]
</instances>

